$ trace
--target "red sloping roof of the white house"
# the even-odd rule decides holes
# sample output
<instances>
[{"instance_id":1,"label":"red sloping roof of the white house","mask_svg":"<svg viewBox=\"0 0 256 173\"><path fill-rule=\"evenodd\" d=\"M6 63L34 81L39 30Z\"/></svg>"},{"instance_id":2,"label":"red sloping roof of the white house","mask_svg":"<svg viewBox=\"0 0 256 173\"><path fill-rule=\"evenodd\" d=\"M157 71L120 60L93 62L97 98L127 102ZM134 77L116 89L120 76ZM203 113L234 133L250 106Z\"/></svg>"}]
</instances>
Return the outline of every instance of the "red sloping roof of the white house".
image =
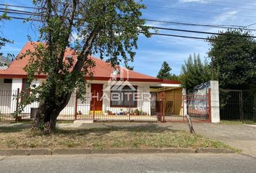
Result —
<instances>
[{"instance_id":1,"label":"red sloping roof of the white house","mask_svg":"<svg viewBox=\"0 0 256 173\"><path fill-rule=\"evenodd\" d=\"M33 43L26 43L25 46L20 51L19 55L22 55L26 52L26 50L33 50ZM67 56L73 56L75 59L76 57L73 55L73 50L67 48L65 52L65 57ZM17 56L18 57L18 56ZM16 58L9 68L6 70L0 70L0 78L26 78L27 73L23 70L23 68L27 65L29 61L29 56L25 56L22 59ZM95 67L93 70L93 80L101 80L101 81L107 81L108 79L111 79L111 74L113 74L113 71L115 70L113 67L111 67L110 63L107 63L106 61L101 60L100 58L94 58L90 57L95 61ZM144 82L163 82L163 79L158 79L153 76L148 76L145 74L140 74L136 71L131 71L127 68L124 68L122 66L118 66L119 71L121 71L121 75L117 75L117 79L120 79L121 77L123 79L128 79L129 81L144 81ZM46 78L46 75L36 75L35 76L38 79L44 79ZM85 76L88 77L88 76ZM89 79L89 78L88 78ZM179 81L170 81L165 80L164 83L168 84L180 84Z\"/></svg>"}]
</instances>

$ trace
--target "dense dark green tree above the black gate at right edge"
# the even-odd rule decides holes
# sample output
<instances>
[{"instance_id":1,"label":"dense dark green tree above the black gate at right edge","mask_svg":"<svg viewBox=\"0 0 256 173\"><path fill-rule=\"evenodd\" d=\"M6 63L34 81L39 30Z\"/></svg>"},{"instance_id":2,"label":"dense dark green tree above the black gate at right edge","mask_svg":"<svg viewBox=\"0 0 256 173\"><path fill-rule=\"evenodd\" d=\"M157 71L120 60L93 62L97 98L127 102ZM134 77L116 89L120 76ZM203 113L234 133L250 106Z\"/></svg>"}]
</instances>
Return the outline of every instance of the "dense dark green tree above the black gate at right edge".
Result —
<instances>
[{"instance_id":1,"label":"dense dark green tree above the black gate at right edge","mask_svg":"<svg viewBox=\"0 0 256 173\"><path fill-rule=\"evenodd\" d=\"M220 33L208 40L211 66L220 71L219 84L222 88L247 89L256 79L256 41L242 30Z\"/></svg>"}]
</instances>

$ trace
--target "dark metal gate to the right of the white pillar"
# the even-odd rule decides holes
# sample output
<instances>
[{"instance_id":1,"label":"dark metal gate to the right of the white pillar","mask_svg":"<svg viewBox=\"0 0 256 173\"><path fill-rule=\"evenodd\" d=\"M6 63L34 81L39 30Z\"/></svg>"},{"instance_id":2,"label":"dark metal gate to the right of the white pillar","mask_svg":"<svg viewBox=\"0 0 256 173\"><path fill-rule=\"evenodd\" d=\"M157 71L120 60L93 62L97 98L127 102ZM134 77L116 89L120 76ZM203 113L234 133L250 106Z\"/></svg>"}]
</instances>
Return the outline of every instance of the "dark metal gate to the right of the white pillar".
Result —
<instances>
[{"instance_id":1,"label":"dark metal gate to the right of the white pillar","mask_svg":"<svg viewBox=\"0 0 256 173\"><path fill-rule=\"evenodd\" d=\"M255 92L221 89L221 120L255 120Z\"/></svg>"}]
</instances>

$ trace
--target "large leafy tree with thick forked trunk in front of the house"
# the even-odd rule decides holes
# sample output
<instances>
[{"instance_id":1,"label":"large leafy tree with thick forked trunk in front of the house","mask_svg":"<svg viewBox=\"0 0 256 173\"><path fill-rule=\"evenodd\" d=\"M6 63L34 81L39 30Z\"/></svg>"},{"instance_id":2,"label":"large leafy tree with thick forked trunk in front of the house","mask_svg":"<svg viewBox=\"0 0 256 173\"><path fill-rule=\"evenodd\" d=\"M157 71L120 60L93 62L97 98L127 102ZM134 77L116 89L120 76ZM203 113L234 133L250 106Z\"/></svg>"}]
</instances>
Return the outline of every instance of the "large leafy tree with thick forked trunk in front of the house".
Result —
<instances>
[{"instance_id":1,"label":"large leafy tree with thick forked trunk in front of the house","mask_svg":"<svg viewBox=\"0 0 256 173\"><path fill-rule=\"evenodd\" d=\"M38 9L37 20L41 21L40 43L33 43L35 50L25 53L31 57L25 71L30 82L35 74L47 74L47 78L43 85L32 86L19 111L30 102L40 102L36 125L47 125L51 131L75 89L78 97L85 99L88 81L84 76L93 77L90 68L95 66L90 55L99 53L112 66L120 61L127 63L135 56L140 33L150 37L150 32L142 19L141 9L145 5L135 0L33 2ZM72 37L73 34L77 37ZM77 56L77 61L73 58L64 61L68 47L75 50L72 56Z\"/></svg>"}]
</instances>

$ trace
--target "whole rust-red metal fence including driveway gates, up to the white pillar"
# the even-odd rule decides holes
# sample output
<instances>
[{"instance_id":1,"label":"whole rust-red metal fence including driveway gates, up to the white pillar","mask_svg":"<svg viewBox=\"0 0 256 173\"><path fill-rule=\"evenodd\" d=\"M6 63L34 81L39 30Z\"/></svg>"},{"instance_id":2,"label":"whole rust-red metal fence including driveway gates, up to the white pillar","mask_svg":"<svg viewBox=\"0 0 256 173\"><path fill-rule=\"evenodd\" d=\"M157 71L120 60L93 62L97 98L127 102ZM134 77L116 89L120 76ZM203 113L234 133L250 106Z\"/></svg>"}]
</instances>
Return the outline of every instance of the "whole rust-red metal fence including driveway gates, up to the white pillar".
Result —
<instances>
[{"instance_id":1,"label":"whole rust-red metal fence including driveway gates, up to the white pillar","mask_svg":"<svg viewBox=\"0 0 256 173\"><path fill-rule=\"evenodd\" d=\"M0 90L0 121L14 121L12 114L21 101L19 90ZM110 122L186 122L185 113L195 122L210 120L210 94L171 95L168 99L148 99L140 95L136 101L111 102L111 92L88 93L84 101L72 94L57 120L93 120ZM132 99L130 99L132 100ZM33 120L38 102L27 105L18 120Z\"/></svg>"}]
</instances>

